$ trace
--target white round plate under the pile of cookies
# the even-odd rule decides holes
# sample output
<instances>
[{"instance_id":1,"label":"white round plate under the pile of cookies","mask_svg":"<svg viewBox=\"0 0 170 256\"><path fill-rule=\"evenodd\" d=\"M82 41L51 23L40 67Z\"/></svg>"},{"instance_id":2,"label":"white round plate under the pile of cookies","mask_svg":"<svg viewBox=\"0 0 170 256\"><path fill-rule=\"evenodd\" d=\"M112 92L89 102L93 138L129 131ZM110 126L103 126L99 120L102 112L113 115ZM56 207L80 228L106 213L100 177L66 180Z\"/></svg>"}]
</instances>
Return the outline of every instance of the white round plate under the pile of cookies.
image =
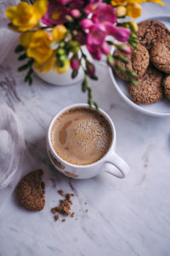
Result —
<instances>
[{"instance_id":1,"label":"white round plate under the pile of cookies","mask_svg":"<svg viewBox=\"0 0 170 256\"><path fill-rule=\"evenodd\" d=\"M150 17L150 19L144 19L144 20L159 20L162 23L164 23L168 29L170 29L170 17L168 16L153 16L153 17ZM140 20L139 22L144 20ZM112 49L112 53L114 52L114 50L115 49ZM127 102L130 106L139 110L142 113L147 113L155 116L170 116L170 101L168 101L165 97L161 100L161 102L157 102L155 104L138 105L131 100L131 97L127 90L127 82L123 81L122 79L119 79L116 76L116 74L112 72L111 67L110 67L110 75L111 75L111 80L114 86L116 87L116 90L122 96L123 100Z\"/></svg>"}]
</instances>

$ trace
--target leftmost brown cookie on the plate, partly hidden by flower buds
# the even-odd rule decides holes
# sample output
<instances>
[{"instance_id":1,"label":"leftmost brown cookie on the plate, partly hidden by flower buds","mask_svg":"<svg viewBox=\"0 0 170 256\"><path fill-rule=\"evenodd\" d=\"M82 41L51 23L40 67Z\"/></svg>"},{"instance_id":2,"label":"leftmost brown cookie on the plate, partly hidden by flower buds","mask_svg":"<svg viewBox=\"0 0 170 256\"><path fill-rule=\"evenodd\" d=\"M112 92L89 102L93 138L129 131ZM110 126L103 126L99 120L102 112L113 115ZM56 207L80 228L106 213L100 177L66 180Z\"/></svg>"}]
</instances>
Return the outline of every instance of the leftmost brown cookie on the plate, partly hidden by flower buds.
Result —
<instances>
[{"instance_id":1,"label":"leftmost brown cookie on the plate, partly hidden by flower buds","mask_svg":"<svg viewBox=\"0 0 170 256\"><path fill-rule=\"evenodd\" d=\"M123 67L125 69L133 71L134 73L136 73L137 77L140 77L143 76L149 65L150 56L147 49L145 49L143 45L138 44L138 47L139 49L133 49L131 47L131 55L126 55L120 50L116 49L113 56L122 56L126 58L128 61L127 64L123 63L122 61L115 61L115 64L119 67ZM119 78L126 81L129 80L128 76L117 70L116 67L113 67L113 70Z\"/></svg>"}]
</instances>

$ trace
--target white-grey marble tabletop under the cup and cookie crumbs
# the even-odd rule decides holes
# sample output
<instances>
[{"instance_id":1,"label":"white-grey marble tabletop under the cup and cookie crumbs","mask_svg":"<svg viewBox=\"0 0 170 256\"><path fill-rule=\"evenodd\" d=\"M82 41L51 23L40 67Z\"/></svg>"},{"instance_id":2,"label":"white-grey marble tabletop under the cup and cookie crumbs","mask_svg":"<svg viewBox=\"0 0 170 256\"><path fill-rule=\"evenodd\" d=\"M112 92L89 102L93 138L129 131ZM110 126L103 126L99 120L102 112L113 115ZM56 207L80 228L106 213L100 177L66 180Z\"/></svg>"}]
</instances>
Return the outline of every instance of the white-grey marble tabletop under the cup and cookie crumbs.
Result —
<instances>
[{"instance_id":1,"label":"white-grey marble tabletop under the cup and cookie crumbs","mask_svg":"<svg viewBox=\"0 0 170 256\"><path fill-rule=\"evenodd\" d=\"M169 11L168 1L166 8L144 4L143 17ZM18 66L12 49L0 67L0 99L23 125L30 154L27 169L42 167L45 172L46 205L42 212L26 212L12 195L0 212L0 256L170 255L170 119L127 106L111 84L107 67L98 63L94 98L113 119L117 153L131 171L122 180L106 173L84 181L63 177L48 160L48 124L59 109L86 102L86 95L80 84L55 87L36 76L29 87ZM54 222L50 212L58 205L59 189L75 193L75 218L65 223Z\"/></svg>"}]
</instances>

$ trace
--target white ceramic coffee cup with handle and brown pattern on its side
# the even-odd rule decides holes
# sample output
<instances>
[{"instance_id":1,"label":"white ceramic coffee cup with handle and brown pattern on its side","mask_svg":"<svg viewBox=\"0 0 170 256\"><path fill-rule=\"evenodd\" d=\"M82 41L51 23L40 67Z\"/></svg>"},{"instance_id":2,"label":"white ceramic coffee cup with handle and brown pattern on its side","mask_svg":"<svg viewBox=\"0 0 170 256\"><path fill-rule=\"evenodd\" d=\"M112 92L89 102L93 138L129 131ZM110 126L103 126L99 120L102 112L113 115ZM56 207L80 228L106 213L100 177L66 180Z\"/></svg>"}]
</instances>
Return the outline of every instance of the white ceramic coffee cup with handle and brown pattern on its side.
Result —
<instances>
[{"instance_id":1,"label":"white ceramic coffee cup with handle and brown pattern on its side","mask_svg":"<svg viewBox=\"0 0 170 256\"><path fill-rule=\"evenodd\" d=\"M111 175L115 177L126 177L127 173L129 172L129 167L127 166L127 163L122 160L122 158L116 154L116 129L115 125L113 124L111 118L105 111L99 109L100 113L105 117L105 119L108 120L109 124L111 125L111 131L112 131L112 142L111 146L108 149L107 153L100 159L94 162L93 164L87 165L87 166L77 166L73 165L65 160L63 160L55 151L53 148L53 145L51 143L51 129L54 125L54 121L59 118L59 115L61 113L65 113L65 111L71 109L71 108L77 108L77 107L88 107L88 104L74 104L69 107L66 107L62 109L59 113L57 113L54 118L52 119L49 127L48 127L48 137L47 137L47 150L48 150L48 156L55 168L59 171L65 174L65 176L68 177L74 177L77 179L84 179L89 177L94 177L98 175L100 172L108 172Z\"/></svg>"}]
</instances>

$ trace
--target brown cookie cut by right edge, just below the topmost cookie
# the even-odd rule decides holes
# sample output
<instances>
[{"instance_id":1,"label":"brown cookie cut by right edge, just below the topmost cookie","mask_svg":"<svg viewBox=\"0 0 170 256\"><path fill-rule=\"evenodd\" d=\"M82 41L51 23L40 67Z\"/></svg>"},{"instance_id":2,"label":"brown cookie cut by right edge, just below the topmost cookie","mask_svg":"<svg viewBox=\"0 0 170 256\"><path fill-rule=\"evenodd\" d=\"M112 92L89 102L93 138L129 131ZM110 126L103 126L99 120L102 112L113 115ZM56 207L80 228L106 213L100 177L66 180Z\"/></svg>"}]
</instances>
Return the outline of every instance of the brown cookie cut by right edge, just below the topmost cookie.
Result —
<instances>
[{"instance_id":1,"label":"brown cookie cut by right edge, just below the topmost cookie","mask_svg":"<svg viewBox=\"0 0 170 256\"><path fill-rule=\"evenodd\" d=\"M170 42L157 42L150 49L150 61L164 73L170 73Z\"/></svg>"}]
</instances>

